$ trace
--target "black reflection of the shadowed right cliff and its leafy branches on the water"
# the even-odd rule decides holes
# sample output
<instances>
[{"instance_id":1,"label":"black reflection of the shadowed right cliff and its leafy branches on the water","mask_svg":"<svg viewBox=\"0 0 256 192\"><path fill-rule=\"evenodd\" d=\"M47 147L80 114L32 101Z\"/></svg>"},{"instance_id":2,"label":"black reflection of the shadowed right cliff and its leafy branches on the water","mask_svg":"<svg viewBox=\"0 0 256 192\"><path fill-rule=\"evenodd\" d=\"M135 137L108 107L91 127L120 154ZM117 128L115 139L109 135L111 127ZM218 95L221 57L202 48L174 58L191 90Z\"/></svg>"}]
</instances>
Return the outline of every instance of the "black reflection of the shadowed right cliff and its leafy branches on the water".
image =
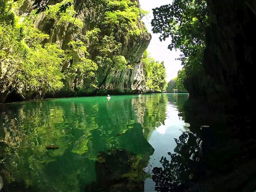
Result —
<instances>
[{"instance_id":1,"label":"black reflection of the shadowed right cliff and its leafy branches on the water","mask_svg":"<svg viewBox=\"0 0 256 192\"><path fill-rule=\"evenodd\" d=\"M178 104L180 116L191 126L174 138L174 153L167 153L159 159L161 167L153 168L155 190L255 191L256 144L251 114L209 110L200 104L192 100Z\"/></svg>"}]
</instances>

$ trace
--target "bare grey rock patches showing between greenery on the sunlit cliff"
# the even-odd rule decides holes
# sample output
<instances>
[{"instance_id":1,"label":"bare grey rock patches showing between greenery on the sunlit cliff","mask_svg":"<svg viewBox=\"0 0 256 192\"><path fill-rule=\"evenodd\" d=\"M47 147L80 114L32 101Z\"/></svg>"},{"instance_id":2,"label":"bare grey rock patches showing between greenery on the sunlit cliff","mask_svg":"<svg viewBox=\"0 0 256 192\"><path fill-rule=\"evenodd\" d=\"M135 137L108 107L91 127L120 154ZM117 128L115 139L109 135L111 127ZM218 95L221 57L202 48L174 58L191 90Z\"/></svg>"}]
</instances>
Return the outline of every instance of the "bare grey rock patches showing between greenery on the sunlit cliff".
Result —
<instances>
[{"instance_id":1,"label":"bare grey rock patches showing between greenery on the sunlit cliff","mask_svg":"<svg viewBox=\"0 0 256 192\"><path fill-rule=\"evenodd\" d=\"M80 0L75 0L75 11L79 10L81 2L82 1ZM55 4L55 1L52 1L51 4ZM102 17L102 10L103 8L101 5L94 5L93 7L89 4L88 6L84 7L84 10L81 11L78 16L83 22L83 29L79 32L74 30L74 36L79 38L79 36L85 35L86 31L90 29L90 25L100 21ZM30 0L25 1L19 10L19 14L26 15L27 11L31 11ZM145 29L144 24L140 19L138 19L137 25L139 29ZM74 40L74 36L72 35L71 31L71 22L67 21L62 23L62 25L59 25L57 20L48 19L45 13L41 13L34 19L34 26L44 33L49 34L50 38L46 40L45 43L56 43L63 50L70 50L68 42ZM87 84L90 82L83 81L83 77L81 76L77 77L76 79L65 79L64 90L66 92L72 92L74 91L76 84L83 83L83 89L86 94L106 93L108 91L114 93L136 93L138 91L145 91L144 71L140 60L143 52L150 43L151 35L142 31L146 30L141 30L139 35L129 35L127 37L125 34L121 34L117 35L116 37L116 40L121 43L121 54L125 57L128 64L131 65L132 68L120 70L113 68L110 69L108 67L99 67L97 71L98 88L95 88L94 90L87 89ZM71 56L72 59L70 62L63 65L62 71L67 70L72 64L79 62L83 57L87 57L88 59L95 57L91 53L89 56L86 56L83 52L74 52L73 50L69 51L69 56ZM80 82L76 82L78 79Z\"/></svg>"}]
</instances>

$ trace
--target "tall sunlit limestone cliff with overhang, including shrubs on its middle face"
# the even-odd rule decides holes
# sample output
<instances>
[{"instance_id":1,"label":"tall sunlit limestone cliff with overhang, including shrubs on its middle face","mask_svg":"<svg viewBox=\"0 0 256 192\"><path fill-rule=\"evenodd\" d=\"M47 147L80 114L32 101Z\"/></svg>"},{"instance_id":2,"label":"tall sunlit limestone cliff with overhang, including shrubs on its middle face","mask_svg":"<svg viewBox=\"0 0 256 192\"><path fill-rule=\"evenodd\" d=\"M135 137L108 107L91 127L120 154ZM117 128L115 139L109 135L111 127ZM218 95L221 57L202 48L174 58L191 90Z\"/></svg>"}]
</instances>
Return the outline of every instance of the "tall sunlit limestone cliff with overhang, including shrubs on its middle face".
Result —
<instances>
[{"instance_id":1,"label":"tall sunlit limestone cliff with overhang, including shrubs on its middle face","mask_svg":"<svg viewBox=\"0 0 256 192\"><path fill-rule=\"evenodd\" d=\"M51 5L61 3L64 1L50 1ZM133 1L131 1L133 2ZM136 93L138 91L145 91L144 87L144 72L141 64L141 56L146 50L151 35L147 33L144 24L137 18L137 27L139 33L129 33L118 26L110 31L106 25L102 25L102 20L106 16L106 5L99 4L97 1L91 0L84 3L82 7L82 0L75 0L69 10L72 15L71 18L65 20L57 16L51 16L50 11L43 12L39 15L30 15L30 20L33 20L34 27L42 32L49 34L49 39L44 43L56 43L59 48L66 50L69 59L65 61L62 71L68 71L73 75L69 75L64 80L64 87L57 96L74 96L87 94L103 94L103 93ZM139 4L137 4L139 6ZM50 7L51 9L52 7ZM81 8L81 9L80 9ZM80 11L79 11L80 10ZM25 16L32 11L32 3L30 0L25 0L23 5L19 8L19 15ZM72 12L74 11L74 12ZM74 18L78 13L76 20ZM62 14L62 13L61 13ZM61 15L59 14L59 15ZM67 11L68 14L68 11ZM74 23L74 25L73 25ZM97 39L89 39L89 32L97 29ZM94 33L94 32L91 32ZM95 32L96 33L96 32ZM103 38L102 38L103 37ZM113 39L107 42L115 42L120 44L117 54L124 56L127 61L127 67L118 68L111 64L99 64L98 57L102 55L101 49L97 49L98 44L105 44L104 38L111 37ZM75 49L70 45L70 42L83 42L86 46L86 51ZM111 44L111 43L109 43ZM109 48L114 49L114 48ZM114 50L113 50L114 52ZM103 56L102 56L103 57ZM83 60L83 58L90 59L97 64L96 76L88 78L88 75L75 68L75 64ZM75 73L75 75L74 75ZM92 84L94 84L92 86ZM53 93L48 93L52 95Z\"/></svg>"}]
</instances>

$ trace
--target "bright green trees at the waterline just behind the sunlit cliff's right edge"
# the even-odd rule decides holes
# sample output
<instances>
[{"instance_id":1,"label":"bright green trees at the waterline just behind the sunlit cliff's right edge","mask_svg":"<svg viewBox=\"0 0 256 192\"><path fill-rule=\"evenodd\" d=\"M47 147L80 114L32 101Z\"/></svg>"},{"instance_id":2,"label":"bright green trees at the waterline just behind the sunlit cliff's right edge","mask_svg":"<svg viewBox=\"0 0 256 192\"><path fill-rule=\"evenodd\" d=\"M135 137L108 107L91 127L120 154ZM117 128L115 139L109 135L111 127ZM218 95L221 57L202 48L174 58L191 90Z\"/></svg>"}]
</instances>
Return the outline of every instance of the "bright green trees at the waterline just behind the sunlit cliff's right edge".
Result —
<instances>
[{"instance_id":1,"label":"bright green trees at the waterline just behind the sunlit cliff's right edge","mask_svg":"<svg viewBox=\"0 0 256 192\"><path fill-rule=\"evenodd\" d=\"M147 51L143 53L142 59L146 87L150 92L162 92L166 88L166 73L163 61L159 63L148 56Z\"/></svg>"}]
</instances>

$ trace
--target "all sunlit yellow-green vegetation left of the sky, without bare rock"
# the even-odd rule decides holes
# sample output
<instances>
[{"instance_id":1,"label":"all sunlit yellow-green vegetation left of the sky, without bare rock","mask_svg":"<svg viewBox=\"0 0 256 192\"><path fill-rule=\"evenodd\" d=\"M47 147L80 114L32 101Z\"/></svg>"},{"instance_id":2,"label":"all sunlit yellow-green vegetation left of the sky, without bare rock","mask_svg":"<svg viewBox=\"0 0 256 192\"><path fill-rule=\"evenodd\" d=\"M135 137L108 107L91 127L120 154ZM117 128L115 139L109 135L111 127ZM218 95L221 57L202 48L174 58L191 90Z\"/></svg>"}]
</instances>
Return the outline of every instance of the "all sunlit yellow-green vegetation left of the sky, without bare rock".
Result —
<instances>
[{"instance_id":1,"label":"all sunlit yellow-green vegetation left of the sky, without bare rock","mask_svg":"<svg viewBox=\"0 0 256 192\"><path fill-rule=\"evenodd\" d=\"M100 85L100 69L126 70L132 68L122 50L129 37L146 31L137 23L145 11L132 0L89 0L83 8L89 14L91 7L99 7L99 18L85 15L81 20L72 0L49 4L34 1L34 10L27 16L19 16L23 1L0 0L0 93L18 93L22 97L43 98L48 92L61 89L92 93ZM38 15L58 22L50 30L67 25L72 39L60 45L52 42L48 34L34 24ZM100 19L100 22L98 22ZM88 30L82 35L82 29ZM74 59L74 53L79 59ZM81 57L82 55L82 57ZM144 56L143 59L145 60ZM162 91L165 69L162 64L144 62L148 89ZM154 73L155 69L159 72ZM158 80L159 79L159 80ZM158 82L159 81L159 82ZM160 83L160 81L162 81ZM153 83L156 82L156 83ZM160 83L160 84L159 84Z\"/></svg>"}]
</instances>

